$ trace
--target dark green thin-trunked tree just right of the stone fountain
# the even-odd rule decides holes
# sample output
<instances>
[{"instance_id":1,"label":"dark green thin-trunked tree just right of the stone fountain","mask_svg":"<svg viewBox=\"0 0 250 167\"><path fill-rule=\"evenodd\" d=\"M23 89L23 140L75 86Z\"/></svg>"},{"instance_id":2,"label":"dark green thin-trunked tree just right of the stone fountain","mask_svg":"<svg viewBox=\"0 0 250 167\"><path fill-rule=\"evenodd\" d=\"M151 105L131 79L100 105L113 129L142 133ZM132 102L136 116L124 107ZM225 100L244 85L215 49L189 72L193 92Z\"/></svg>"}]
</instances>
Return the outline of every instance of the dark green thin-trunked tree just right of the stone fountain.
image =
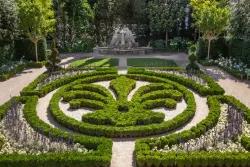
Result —
<instances>
[{"instance_id":1,"label":"dark green thin-trunked tree just right of the stone fountain","mask_svg":"<svg viewBox=\"0 0 250 167\"><path fill-rule=\"evenodd\" d=\"M178 28L185 21L187 0L162 0L148 3L148 17L151 29L166 32L166 46L168 46L168 33Z\"/></svg>"}]
</instances>

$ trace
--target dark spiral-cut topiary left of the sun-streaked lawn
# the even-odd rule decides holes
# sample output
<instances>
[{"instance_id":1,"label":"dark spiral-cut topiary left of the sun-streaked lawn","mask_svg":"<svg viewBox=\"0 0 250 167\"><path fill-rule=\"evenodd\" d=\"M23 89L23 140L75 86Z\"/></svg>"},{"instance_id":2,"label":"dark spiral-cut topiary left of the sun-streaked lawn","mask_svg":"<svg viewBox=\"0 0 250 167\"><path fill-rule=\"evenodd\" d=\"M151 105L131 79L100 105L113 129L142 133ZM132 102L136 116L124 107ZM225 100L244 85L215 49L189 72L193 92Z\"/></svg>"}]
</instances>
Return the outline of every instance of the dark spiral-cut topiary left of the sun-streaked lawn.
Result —
<instances>
[{"instance_id":1,"label":"dark spiral-cut topiary left of the sun-streaked lawn","mask_svg":"<svg viewBox=\"0 0 250 167\"><path fill-rule=\"evenodd\" d=\"M58 71L60 70L60 66L58 64L61 62L61 59L58 57L59 51L56 49L56 41L53 40L51 44L51 54L48 55L47 62L45 67L48 71Z\"/></svg>"}]
</instances>

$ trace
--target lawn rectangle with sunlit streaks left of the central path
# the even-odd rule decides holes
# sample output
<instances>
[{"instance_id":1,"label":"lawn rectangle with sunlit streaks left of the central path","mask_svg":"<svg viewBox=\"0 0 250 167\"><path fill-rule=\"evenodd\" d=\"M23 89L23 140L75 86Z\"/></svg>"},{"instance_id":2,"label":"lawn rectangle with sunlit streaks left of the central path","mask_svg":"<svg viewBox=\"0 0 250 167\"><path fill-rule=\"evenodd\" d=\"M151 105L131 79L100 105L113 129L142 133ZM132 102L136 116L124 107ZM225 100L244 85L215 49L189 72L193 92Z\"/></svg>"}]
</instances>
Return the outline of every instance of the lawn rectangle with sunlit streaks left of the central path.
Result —
<instances>
[{"instance_id":1,"label":"lawn rectangle with sunlit streaks left of the central path","mask_svg":"<svg viewBox=\"0 0 250 167\"><path fill-rule=\"evenodd\" d=\"M71 67L115 67L118 66L119 60L112 58L86 58L74 61L70 64Z\"/></svg>"}]
</instances>

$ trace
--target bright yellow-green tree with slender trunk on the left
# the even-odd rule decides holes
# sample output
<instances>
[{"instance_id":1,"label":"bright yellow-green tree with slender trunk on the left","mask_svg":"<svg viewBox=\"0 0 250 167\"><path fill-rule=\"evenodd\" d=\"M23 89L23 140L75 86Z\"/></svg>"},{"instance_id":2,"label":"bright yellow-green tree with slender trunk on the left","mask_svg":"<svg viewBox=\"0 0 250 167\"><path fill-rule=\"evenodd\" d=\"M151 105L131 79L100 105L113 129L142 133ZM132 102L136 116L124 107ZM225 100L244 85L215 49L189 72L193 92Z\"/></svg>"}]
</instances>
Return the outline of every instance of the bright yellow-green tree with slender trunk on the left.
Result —
<instances>
[{"instance_id":1,"label":"bright yellow-green tree with slender trunk on the left","mask_svg":"<svg viewBox=\"0 0 250 167\"><path fill-rule=\"evenodd\" d=\"M38 61L38 41L53 33L56 20L51 0L19 0L18 15L20 30L34 43Z\"/></svg>"}]
</instances>

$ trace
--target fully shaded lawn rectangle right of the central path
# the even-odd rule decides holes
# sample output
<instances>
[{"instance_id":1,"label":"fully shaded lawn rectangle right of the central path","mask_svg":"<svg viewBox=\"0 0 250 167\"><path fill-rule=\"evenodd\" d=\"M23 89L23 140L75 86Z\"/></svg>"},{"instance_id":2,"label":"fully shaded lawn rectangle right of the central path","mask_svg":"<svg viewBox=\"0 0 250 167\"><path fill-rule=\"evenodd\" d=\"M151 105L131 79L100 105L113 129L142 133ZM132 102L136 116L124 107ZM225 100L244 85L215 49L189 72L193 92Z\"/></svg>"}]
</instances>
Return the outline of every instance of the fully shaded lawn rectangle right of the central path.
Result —
<instances>
[{"instance_id":1,"label":"fully shaded lawn rectangle right of the central path","mask_svg":"<svg viewBox=\"0 0 250 167\"><path fill-rule=\"evenodd\" d=\"M157 58L129 58L127 65L130 67L177 67L172 60Z\"/></svg>"}]
</instances>

